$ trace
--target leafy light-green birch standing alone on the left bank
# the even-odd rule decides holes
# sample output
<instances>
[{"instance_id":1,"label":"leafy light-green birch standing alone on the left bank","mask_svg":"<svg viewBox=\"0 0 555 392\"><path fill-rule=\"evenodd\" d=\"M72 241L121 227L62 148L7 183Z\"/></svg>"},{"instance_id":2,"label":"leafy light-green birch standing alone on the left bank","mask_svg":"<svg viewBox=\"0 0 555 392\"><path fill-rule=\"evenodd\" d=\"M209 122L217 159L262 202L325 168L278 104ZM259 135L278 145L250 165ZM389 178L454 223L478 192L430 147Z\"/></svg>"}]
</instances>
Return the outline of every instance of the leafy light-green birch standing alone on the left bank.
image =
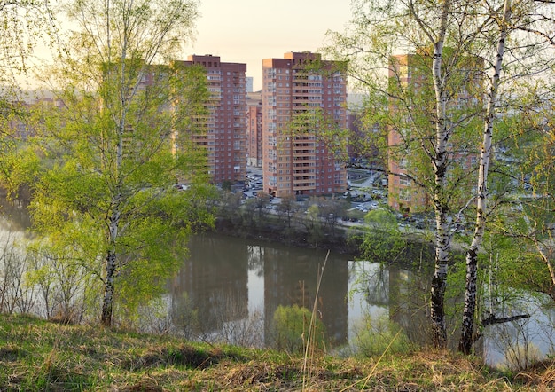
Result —
<instances>
[{"instance_id":1,"label":"leafy light-green birch standing alone on the left bank","mask_svg":"<svg viewBox=\"0 0 555 392\"><path fill-rule=\"evenodd\" d=\"M99 314L160 294L192 231L210 224L205 154L192 135L206 75L172 66L198 17L190 0L77 0L77 29L49 70L63 107L44 118L51 169L32 201L35 230L98 278ZM185 181L187 190L172 186ZM77 253L77 255L75 255Z\"/></svg>"}]
</instances>

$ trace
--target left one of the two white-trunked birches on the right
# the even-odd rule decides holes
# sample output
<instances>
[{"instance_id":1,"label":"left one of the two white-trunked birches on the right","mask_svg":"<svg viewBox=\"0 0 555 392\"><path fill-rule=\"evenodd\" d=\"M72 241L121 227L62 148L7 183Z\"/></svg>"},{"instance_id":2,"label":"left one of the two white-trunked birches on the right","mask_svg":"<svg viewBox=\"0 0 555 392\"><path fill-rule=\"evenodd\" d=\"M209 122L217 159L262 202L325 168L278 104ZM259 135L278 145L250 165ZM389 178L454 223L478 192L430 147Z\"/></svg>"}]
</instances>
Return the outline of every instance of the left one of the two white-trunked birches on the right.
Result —
<instances>
[{"instance_id":1,"label":"left one of the two white-trunked birches on the right","mask_svg":"<svg viewBox=\"0 0 555 392\"><path fill-rule=\"evenodd\" d=\"M403 161L409 181L431 200L436 234L430 318L434 344L445 347L449 229L472 171L460 156L472 152L475 137L470 129L480 113L480 91L472 90L480 69L472 49L489 20L473 17L475 2L353 4L351 29L331 34L329 49L335 58L348 61L348 74L368 94L365 122L368 128L379 124L376 136L381 141L374 144L384 147L384 161ZM460 91L467 92L465 98ZM398 140L387 145L394 133Z\"/></svg>"}]
</instances>

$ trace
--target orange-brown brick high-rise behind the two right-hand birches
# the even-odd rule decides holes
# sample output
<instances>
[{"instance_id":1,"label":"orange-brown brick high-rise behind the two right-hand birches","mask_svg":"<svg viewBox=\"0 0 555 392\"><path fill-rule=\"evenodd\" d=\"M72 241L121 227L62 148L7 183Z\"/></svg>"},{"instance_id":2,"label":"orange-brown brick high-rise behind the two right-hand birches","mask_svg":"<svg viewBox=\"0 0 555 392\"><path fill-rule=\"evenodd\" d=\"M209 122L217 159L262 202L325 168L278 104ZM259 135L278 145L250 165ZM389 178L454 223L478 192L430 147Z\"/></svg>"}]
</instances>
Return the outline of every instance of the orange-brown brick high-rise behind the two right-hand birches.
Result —
<instances>
[{"instance_id":1,"label":"orange-brown brick high-rise behind the two right-hand birches","mask_svg":"<svg viewBox=\"0 0 555 392\"><path fill-rule=\"evenodd\" d=\"M469 122L469 114L477 113L473 106L481 106L480 89L477 87L481 86L483 59L467 58L460 63L450 65L449 87L453 91L449 92L446 115L449 122L459 123L459 127L462 127L462 124ZM389 112L399 112L399 116L395 127L390 127L387 137L390 149L387 162L388 204L403 212L426 210L431 207L429 194L415 184L410 176L422 176L419 178L421 181L426 177L418 169L418 158L415 161L415 156L422 153L422 144L427 144L435 137L432 57L426 52L392 56L388 77L391 96L405 97L404 100L389 99ZM399 94L400 90L403 93ZM403 106L403 112L400 112L400 106ZM476 152L472 148L462 148L465 144L472 145L471 141L458 140L456 144L453 144L451 137L447 145L450 170L468 171L475 167ZM461 188L473 186L462 180L458 184Z\"/></svg>"}]
</instances>

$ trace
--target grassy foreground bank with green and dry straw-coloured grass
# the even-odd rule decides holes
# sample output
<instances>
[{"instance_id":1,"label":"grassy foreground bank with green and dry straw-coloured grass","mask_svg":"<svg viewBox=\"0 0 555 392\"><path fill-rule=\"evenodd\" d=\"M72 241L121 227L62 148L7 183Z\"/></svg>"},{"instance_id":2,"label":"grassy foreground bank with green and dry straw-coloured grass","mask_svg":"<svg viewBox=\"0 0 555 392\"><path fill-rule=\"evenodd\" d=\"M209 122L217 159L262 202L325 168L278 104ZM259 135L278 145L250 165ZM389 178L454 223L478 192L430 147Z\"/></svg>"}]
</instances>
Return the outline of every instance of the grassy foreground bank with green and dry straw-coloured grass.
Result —
<instances>
[{"instance_id":1,"label":"grassy foreground bank with green and dry straw-coloured grass","mask_svg":"<svg viewBox=\"0 0 555 392\"><path fill-rule=\"evenodd\" d=\"M0 390L301 390L303 357L100 326L0 315ZM506 391L555 388L555 365L496 372L472 358L317 354L305 390Z\"/></svg>"}]
</instances>

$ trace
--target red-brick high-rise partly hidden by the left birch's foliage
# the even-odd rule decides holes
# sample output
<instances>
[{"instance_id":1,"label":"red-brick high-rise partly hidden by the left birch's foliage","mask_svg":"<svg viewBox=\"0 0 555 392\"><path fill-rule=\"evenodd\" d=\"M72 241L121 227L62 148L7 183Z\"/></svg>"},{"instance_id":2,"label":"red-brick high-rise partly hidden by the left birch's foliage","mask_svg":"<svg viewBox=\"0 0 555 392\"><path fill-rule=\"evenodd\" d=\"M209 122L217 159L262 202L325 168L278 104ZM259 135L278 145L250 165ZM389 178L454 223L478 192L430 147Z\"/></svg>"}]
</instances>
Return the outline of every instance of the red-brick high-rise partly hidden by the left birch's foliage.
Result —
<instances>
[{"instance_id":1,"label":"red-brick high-rise partly hidden by the left birch's foliage","mask_svg":"<svg viewBox=\"0 0 555 392\"><path fill-rule=\"evenodd\" d=\"M246 176L246 64L224 63L219 56L192 55L184 66L207 71L207 134L196 142L207 148L208 168L215 184L244 181Z\"/></svg>"}]
</instances>

